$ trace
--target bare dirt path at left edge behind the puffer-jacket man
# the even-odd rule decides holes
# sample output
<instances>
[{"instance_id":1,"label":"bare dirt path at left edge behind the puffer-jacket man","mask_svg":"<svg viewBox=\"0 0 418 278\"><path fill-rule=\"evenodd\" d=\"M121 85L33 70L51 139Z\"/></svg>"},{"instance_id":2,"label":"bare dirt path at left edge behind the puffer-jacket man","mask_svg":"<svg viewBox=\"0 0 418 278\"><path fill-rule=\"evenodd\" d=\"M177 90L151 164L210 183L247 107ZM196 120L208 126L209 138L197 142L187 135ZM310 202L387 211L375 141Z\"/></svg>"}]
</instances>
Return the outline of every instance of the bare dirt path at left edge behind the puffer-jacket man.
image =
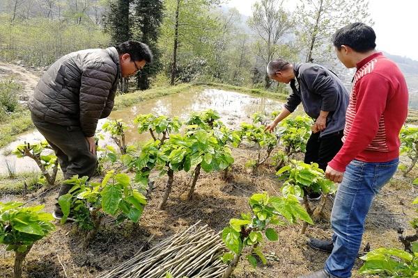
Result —
<instances>
[{"instance_id":1,"label":"bare dirt path at left edge behind the puffer-jacket man","mask_svg":"<svg viewBox=\"0 0 418 278\"><path fill-rule=\"evenodd\" d=\"M13 78L22 83L22 100L26 100L33 93L33 89L39 81L40 73L27 70L20 65L0 62L0 79Z\"/></svg>"}]
</instances>

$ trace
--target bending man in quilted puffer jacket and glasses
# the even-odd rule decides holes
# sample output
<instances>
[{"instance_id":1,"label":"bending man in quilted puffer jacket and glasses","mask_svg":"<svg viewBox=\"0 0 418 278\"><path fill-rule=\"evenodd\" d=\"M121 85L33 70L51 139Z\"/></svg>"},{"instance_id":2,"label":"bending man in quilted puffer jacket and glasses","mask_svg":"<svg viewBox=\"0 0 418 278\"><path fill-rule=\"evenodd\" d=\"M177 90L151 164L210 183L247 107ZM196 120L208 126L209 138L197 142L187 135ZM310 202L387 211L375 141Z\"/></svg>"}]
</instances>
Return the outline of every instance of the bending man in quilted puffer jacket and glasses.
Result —
<instances>
[{"instance_id":1,"label":"bending man in quilted puffer jacket and glasses","mask_svg":"<svg viewBox=\"0 0 418 278\"><path fill-rule=\"evenodd\" d=\"M95 129L109 116L121 77L132 76L153 59L148 46L128 41L107 49L72 52L52 64L29 100L33 124L59 159L64 179L95 171ZM59 196L71 186L62 184ZM61 218L56 204L54 217Z\"/></svg>"}]
</instances>

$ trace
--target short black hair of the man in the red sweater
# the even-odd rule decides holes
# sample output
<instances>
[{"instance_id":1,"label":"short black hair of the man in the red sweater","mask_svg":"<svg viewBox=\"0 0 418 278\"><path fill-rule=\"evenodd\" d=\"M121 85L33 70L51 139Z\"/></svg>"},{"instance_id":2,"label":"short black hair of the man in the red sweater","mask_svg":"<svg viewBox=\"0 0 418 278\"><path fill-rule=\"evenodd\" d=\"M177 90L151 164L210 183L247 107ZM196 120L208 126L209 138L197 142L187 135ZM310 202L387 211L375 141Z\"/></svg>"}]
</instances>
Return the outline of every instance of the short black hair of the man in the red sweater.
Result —
<instances>
[{"instance_id":1,"label":"short black hair of the man in the red sweater","mask_svg":"<svg viewBox=\"0 0 418 278\"><path fill-rule=\"evenodd\" d=\"M341 45L346 45L354 51L364 53L375 49L376 33L371 26L355 22L337 30L332 36L332 43L338 50L341 50Z\"/></svg>"}]
</instances>

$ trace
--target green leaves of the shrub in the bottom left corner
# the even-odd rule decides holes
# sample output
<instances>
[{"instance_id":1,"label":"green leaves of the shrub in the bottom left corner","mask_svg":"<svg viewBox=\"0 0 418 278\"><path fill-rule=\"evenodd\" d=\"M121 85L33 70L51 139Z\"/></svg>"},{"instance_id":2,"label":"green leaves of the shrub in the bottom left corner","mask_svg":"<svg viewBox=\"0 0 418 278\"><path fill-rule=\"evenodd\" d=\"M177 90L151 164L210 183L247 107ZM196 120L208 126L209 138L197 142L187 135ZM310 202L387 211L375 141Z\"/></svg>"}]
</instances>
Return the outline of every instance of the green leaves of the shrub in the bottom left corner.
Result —
<instances>
[{"instance_id":1,"label":"green leaves of the shrub in the bottom left corner","mask_svg":"<svg viewBox=\"0 0 418 278\"><path fill-rule=\"evenodd\" d=\"M6 250L21 253L55 229L52 215L41 211L44 206L22 205L0 202L0 243L7 245Z\"/></svg>"}]
</instances>

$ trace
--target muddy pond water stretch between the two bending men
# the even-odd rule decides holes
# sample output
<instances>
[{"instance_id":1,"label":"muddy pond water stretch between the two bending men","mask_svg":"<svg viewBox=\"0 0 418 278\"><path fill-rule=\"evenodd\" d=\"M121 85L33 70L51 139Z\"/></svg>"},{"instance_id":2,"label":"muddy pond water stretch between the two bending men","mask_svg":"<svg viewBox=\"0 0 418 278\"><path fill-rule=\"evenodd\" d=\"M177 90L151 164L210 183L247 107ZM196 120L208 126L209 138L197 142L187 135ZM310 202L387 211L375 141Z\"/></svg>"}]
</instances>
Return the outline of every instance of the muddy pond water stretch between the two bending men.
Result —
<instances>
[{"instance_id":1,"label":"muddy pond water stretch between the two bending men","mask_svg":"<svg viewBox=\"0 0 418 278\"><path fill-rule=\"evenodd\" d=\"M128 143L132 144L150 140L148 133L139 135L135 129L133 120L138 114L178 116L180 120L187 120L188 115L193 111L206 109L216 110L222 122L230 128L234 128L240 122L250 121L249 117L255 112L271 113L281 110L281 102L265 97L251 97L238 92L207 89L203 92L180 93L159 99L150 99L130 108L114 111L109 119L122 120L130 126L130 130L126 133L126 139Z\"/></svg>"}]
</instances>

